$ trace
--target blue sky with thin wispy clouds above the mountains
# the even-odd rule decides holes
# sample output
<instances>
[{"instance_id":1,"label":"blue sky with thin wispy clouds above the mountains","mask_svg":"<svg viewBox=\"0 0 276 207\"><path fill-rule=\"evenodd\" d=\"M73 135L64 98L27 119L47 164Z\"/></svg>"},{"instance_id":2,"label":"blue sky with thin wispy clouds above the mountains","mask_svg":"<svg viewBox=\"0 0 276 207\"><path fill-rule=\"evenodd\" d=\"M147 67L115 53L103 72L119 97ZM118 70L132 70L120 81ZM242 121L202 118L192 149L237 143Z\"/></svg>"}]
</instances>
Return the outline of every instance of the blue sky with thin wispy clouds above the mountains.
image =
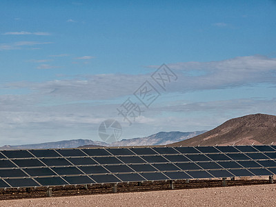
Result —
<instances>
[{"instance_id":1,"label":"blue sky with thin wispy clouds above the mountains","mask_svg":"<svg viewBox=\"0 0 276 207\"><path fill-rule=\"evenodd\" d=\"M0 1L0 145L210 130L276 115L276 1ZM143 108L133 93L175 72ZM155 84L154 82L152 84ZM129 126L117 108L144 110Z\"/></svg>"}]
</instances>

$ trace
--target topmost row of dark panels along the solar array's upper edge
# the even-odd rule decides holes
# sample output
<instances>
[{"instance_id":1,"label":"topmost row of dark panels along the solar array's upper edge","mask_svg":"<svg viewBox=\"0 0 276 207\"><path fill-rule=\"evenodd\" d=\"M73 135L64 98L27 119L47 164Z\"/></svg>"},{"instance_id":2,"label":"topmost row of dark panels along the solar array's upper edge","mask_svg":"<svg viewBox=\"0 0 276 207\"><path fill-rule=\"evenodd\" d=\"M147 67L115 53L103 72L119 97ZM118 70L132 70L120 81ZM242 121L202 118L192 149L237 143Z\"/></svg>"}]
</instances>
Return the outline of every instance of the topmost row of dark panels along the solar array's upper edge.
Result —
<instances>
[{"instance_id":1,"label":"topmost row of dark panels along the solar array's upper edge","mask_svg":"<svg viewBox=\"0 0 276 207\"><path fill-rule=\"evenodd\" d=\"M276 146L197 146L155 148L95 148L95 149L52 149L52 150L2 150L0 159L27 157L82 157L114 155L175 155L226 152L275 152Z\"/></svg>"}]
</instances>

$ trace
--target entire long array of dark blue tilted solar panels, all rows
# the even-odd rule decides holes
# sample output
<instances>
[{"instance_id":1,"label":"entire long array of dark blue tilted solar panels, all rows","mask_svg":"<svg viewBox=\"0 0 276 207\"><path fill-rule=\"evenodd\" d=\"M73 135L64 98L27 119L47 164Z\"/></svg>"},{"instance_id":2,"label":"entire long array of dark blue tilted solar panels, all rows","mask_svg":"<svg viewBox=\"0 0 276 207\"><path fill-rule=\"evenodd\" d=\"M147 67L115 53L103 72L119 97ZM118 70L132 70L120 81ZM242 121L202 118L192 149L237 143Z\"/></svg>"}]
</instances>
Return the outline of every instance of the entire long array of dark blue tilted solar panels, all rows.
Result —
<instances>
[{"instance_id":1,"label":"entire long array of dark blue tilted solar panels, all rows","mask_svg":"<svg viewBox=\"0 0 276 207\"><path fill-rule=\"evenodd\" d=\"M276 146L0 151L0 188L261 175L276 175Z\"/></svg>"}]
</instances>

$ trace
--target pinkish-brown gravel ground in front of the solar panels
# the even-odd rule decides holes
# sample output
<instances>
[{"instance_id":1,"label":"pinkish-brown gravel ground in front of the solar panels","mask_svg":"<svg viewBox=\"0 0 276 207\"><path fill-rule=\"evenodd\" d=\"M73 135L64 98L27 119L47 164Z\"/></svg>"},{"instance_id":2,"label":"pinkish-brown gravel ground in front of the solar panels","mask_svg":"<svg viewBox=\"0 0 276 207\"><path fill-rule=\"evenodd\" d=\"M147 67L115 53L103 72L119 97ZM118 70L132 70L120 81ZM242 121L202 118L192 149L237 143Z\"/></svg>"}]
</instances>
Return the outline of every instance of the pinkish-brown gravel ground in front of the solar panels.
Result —
<instances>
[{"instance_id":1,"label":"pinkish-brown gravel ground in front of the solar panels","mask_svg":"<svg viewBox=\"0 0 276 207\"><path fill-rule=\"evenodd\" d=\"M0 201L6 206L275 206L276 184Z\"/></svg>"}]
</instances>

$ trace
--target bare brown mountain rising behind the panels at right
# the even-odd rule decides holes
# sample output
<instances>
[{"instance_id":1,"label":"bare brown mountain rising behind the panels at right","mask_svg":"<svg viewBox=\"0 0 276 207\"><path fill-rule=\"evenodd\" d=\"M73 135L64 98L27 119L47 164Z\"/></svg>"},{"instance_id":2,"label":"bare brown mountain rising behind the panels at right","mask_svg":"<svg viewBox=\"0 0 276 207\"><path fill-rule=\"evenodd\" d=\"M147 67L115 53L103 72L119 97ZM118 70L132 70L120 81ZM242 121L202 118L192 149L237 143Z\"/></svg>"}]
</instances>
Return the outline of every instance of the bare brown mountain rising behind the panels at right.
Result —
<instances>
[{"instance_id":1,"label":"bare brown mountain rising behind the panels at right","mask_svg":"<svg viewBox=\"0 0 276 207\"><path fill-rule=\"evenodd\" d=\"M246 115L230 119L217 128L168 146L225 146L276 144L276 116Z\"/></svg>"}]
</instances>

